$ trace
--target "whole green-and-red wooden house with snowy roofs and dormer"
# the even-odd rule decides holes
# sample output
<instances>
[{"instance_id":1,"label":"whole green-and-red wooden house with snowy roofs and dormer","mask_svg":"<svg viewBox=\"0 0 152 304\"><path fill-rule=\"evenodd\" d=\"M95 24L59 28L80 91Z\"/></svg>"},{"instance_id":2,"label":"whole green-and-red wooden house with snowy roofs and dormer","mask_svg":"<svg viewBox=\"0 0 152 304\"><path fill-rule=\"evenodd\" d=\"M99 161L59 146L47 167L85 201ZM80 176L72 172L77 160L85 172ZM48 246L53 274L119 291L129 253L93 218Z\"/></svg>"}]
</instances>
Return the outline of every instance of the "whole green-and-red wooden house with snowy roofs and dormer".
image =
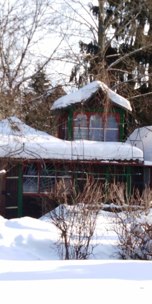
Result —
<instances>
[{"instance_id":1,"label":"whole green-and-red wooden house with snowy roofs and dormer","mask_svg":"<svg viewBox=\"0 0 152 304\"><path fill-rule=\"evenodd\" d=\"M125 98L95 81L59 98L51 110L59 114L59 138L15 117L0 122L0 169L7 171L1 215L40 217L46 192L55 194L61 179L67 195L74 181L81 191L88 175L101 183L125 182L128 192L143 188L143 151L123 142L124 117L131 111Z\"/></svg>"}]
</instances>

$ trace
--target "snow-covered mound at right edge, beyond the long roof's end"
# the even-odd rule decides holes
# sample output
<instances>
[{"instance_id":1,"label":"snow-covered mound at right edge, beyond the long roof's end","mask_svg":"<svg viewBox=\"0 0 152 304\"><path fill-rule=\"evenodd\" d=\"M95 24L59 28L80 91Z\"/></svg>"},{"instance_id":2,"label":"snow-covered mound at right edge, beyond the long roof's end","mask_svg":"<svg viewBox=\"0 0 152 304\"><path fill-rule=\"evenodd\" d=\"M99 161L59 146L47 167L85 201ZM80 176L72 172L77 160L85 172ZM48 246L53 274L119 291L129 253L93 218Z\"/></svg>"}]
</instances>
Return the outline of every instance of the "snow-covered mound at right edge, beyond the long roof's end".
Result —
<instances>
[{"instance_id":1,"label":"snow-covered mound at right edge, beyond the long roof's end","mask_svg":"<svg viewBox=\"0 0 152 304\"><path fill-rule=\"evenodd\" d=\"M135 129L126 143L131 143L133 147L142 150L144 161L152 162L152 126Z\"/></svg>"}]
</instances>

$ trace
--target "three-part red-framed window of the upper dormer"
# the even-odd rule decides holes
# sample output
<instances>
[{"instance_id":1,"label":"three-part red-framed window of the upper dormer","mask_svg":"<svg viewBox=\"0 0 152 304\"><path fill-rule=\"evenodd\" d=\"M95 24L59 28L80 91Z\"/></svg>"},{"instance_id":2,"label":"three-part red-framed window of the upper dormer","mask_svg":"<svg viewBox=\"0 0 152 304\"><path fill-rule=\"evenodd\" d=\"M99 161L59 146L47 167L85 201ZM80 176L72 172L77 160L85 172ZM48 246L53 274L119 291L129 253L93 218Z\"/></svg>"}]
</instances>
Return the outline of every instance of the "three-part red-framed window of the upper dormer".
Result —
<instances>
[{"instance_id":1,"label":"three-part red-framed window of the upper dormer","mask_svg":"<svg viewBox=\"0 0 152 304\"><path fill-rule=\"evenodd\" d=\"M85 139L95 141L119 140L120 114L103 112L74 112L73 139Z\"/></svg>"}]
</instances>

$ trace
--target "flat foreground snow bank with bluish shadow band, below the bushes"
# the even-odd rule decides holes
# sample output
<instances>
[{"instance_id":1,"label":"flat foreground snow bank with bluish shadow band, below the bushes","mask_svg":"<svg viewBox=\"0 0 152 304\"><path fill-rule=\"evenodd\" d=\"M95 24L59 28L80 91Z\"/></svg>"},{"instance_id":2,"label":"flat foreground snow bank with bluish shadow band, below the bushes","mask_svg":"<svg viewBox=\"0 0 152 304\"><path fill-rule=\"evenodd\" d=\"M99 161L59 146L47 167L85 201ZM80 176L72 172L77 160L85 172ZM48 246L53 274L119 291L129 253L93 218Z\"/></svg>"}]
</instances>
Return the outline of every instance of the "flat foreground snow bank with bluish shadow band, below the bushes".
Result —
<instances>
[{"instance_id":1,"label":"flat foreground snow bank with bluish shadow band, below the bushes","mask_svg":"<svg viewBox=\"0 0 152 304\"><path fill-rule=\"evenodd\" d=\"M1 261L3 304L149 303L152 262Z\"/></svg>"}]
</instances>

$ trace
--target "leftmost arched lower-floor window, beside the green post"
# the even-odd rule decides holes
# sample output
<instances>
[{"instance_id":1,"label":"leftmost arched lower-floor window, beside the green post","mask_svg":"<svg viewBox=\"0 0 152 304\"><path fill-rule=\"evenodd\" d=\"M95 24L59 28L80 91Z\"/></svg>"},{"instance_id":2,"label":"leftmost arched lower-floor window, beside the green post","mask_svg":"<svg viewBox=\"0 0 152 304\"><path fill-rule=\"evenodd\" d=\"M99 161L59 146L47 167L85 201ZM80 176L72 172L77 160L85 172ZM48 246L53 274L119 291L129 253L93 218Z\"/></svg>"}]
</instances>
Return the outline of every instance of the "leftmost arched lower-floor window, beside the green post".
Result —
<instances>
[{"instance_id":1,"label":"leftmost arched lower-floor window, beside the green post","mask_svg":"<svg viewBox=\"0 0 152 304\"><path fill-rule=\"evenodd\" d=\"M28 163L23 172L23 193L38 192L38 168L36 163Z\"/></svg>"}]
</instances>

